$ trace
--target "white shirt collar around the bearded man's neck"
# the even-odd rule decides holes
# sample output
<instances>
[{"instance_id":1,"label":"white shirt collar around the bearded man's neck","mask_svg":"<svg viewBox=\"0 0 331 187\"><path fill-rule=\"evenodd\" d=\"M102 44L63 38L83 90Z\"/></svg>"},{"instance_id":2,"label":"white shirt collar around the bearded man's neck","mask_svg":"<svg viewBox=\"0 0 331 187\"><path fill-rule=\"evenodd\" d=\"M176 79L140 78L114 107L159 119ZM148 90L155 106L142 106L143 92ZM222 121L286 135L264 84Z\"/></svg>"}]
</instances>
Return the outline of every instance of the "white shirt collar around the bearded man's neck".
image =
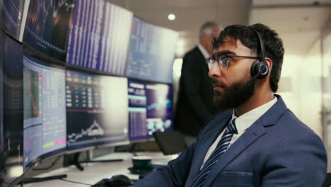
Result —
<instances>
[{"instance_id":1,"label":"white shirt collar around the bearded man's neck","mask_svg":"<svg viewBox=\"0 0 331 187\"><path fill-rule=\"evenodd\" d=\"M243 131L247 130L250 127L250 125L255 123L255 121L258 118L260 118L263 114L265 114L269 110L269 108L271 108L276 102L277 102L277 97L274 97L272 101L269 101L268 103L265 103L262 106L254 108L252 111L249 111L248 113L244 113L239 117L237 117L236 113L233 110L231 120L236 118L236 128L238 130L238 133L240 134Z\"/></svg>"}]
</instances>

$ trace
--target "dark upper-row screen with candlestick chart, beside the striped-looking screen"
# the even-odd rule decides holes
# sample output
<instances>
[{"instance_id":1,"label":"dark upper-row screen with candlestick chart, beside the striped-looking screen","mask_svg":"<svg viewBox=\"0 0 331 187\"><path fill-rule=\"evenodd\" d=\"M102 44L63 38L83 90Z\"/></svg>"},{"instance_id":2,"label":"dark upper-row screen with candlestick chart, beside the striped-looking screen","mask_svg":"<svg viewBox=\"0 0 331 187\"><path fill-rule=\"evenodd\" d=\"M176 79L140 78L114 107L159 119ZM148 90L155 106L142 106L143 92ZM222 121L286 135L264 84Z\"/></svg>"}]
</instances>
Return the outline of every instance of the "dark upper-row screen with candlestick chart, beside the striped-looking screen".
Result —
<instances>
[{"instance_id":1,"label":"dark upper-row screen with candlestick chart, beside the striped-looking screen","mask_svg":"<svg viewBox=\"0 0 331 187\"><path fill-rule=\"evenodd\" d=\"M64 61L74 0L30 0L23 41Z\"/></svg>"}]
</instances>

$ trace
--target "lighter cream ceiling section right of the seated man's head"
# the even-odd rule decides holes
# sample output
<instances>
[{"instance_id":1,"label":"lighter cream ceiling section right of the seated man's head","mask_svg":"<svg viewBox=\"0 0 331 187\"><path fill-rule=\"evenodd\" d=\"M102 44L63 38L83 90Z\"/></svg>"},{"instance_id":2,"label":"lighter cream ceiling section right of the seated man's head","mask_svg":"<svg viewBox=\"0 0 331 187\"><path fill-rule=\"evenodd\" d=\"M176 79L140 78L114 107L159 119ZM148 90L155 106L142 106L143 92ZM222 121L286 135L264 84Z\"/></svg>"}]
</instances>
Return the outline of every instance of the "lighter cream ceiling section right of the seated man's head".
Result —
<instances>
[{"instance_id":1,"label":"lighter cream ceiling section right of the seated man's head","mask_svg":"<svg viewBox=\"0 0 331 187\"><path fill-rule=\"evenodd\" d=\"M285 54L304 57L331 18L330 0L253 0L249 24L265 23L279 33Z\"/></svg>"}]
</instances>

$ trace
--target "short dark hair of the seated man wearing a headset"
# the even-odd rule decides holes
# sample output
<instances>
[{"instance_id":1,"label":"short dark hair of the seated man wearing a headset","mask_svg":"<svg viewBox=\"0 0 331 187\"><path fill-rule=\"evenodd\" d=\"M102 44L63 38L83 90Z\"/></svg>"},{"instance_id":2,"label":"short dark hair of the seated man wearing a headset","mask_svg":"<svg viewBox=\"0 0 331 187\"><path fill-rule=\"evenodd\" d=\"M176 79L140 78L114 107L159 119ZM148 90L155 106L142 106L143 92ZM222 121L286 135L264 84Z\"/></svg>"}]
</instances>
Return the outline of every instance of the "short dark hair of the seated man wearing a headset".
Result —
<instances>
[{"instance_id":1,"label":"short dark hair of the seated man wearing a headset","mask_svg":"<svg viewBox=\"0 0 331 187\"><path fill-rule=\"evenodd\" d=\"M236 44L240 40L243 45L253 50L257 55L261 55L260 42L257 34L252 29L255 28L260 33L265 45L265 57L272 60L272 71L270 73L270 86L273 92L277 92L278 82L281 77L281 66L283 64L284 47L283 41L276 31L261 23L252 26L233 25L224 28L218 38L214 38L214 49L218 50L225 42Z\"/></svg>"}]
</instances>

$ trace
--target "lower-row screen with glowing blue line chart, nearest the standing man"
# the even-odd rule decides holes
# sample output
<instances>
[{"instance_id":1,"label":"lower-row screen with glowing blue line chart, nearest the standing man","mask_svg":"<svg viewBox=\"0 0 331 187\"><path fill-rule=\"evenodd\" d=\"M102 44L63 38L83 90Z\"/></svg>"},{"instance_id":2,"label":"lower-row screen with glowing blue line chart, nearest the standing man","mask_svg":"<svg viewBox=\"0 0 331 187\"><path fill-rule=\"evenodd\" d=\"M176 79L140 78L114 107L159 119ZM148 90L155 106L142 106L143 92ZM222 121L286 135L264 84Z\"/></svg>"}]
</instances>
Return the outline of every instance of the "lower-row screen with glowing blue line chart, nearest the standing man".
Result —
<instances>
[{"instance_id":1,"label":"lower-row screen with glowing blue line chart, nearest the standing man","mask_svg":"<svg viewBox=\"0 0 331 187\"><path fill-rule=\"evenodd\" d=\"M141 140L173 129L173 89L168 84L129 80L129 137Z\"/></svg>"}]
</instances>

